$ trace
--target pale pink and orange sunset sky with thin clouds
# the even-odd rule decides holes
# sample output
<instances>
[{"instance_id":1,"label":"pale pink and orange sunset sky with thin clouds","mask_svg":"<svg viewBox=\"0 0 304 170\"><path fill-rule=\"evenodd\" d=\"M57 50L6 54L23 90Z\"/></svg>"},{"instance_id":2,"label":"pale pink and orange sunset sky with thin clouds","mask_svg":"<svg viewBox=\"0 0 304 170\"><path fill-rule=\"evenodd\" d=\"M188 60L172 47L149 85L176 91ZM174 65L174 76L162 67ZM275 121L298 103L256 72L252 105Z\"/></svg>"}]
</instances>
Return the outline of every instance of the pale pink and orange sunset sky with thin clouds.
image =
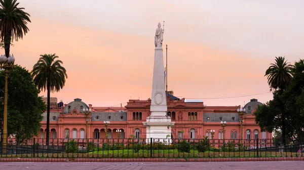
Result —
<instances>
[{"instance_id":1,"label":"pale pink and orange sunset sky with thin clouds","mask_svg":"<svg viewBox=\"0 0 304 170\"><path fill-rule=\"evenodd\" d=\"M18 2L31 23L11 47L15 64L31 71L41 54L56 53L68 75L51 94L58 102L120 106L150 98L154 35L163 21L168 90L207 106L271 100L264 74L275 57L294 64L304 56L303 1Z\"/></svg>"}]
</instances>

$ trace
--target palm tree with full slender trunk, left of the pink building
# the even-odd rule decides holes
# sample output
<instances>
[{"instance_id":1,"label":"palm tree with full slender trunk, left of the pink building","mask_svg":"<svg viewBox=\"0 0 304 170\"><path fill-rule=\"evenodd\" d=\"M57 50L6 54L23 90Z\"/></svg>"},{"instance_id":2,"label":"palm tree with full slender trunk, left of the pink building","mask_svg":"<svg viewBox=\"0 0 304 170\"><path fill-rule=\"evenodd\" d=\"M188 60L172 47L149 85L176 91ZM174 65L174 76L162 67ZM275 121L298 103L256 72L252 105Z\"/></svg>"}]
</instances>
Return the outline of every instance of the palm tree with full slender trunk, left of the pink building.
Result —
<instances>
[{"instance_id":1,"label":"palm tree with full slender trunk, left of the pink building","mask_svg":"<svg viewBox=\"0 0 304 170\"><path fill-rule=\"evenodd\" d=\"M65 78L67 78L66 70L60 64L63 64L56 54L40 55L41 58L33 66L31 71L35 85L39 90L48 91L48 107L47 107L47 140L49 145L50 139L50 92L58 92L63 88Z\"/></svg>"}]
</instances>

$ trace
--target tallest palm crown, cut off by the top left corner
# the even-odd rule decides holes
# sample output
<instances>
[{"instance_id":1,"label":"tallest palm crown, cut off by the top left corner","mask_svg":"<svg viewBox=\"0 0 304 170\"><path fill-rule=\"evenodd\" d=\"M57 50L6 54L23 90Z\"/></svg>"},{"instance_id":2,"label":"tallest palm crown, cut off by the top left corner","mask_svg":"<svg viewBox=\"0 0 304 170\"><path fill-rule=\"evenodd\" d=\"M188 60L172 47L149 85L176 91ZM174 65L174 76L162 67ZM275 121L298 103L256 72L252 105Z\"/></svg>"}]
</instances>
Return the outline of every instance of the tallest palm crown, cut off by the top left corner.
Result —
<instances>
[{"instance_id":1,"label":"tallest palm crown, cut off by the top left corner","mask_svg":"<svg viewBox=\"0 0 304 170\"><path fill-rule=\"evenodd\" d=\"M29 29L30 15L18 8L17 0L0 0L0 38L4 41L5 55L10 55L11 41L23 38Z\"/></svg>"}]
</instances>

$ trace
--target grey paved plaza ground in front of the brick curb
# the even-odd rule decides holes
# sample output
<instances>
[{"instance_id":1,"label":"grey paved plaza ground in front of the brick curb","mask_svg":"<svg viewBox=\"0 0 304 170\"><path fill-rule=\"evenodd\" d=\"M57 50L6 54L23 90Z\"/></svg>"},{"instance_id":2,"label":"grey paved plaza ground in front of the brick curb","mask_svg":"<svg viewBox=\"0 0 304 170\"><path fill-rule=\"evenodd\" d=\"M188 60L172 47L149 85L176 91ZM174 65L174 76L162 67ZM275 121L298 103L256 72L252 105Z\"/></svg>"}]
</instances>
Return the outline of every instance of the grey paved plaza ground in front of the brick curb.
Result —
<instances>
[{"instance_id":1,"label":"grey paved plaza ground in front of the brick curb","mask_svg":"<svg viewBox=\"0 0 304 170\"><path fill-rule=\"evenodd\" d=\"M99 169L153 169L153 170L177 170L177 169L302 169L303 161L256 161L256 162L0 162L0 169L17 170L99 170Z\"/></svg>"}]
</instances>

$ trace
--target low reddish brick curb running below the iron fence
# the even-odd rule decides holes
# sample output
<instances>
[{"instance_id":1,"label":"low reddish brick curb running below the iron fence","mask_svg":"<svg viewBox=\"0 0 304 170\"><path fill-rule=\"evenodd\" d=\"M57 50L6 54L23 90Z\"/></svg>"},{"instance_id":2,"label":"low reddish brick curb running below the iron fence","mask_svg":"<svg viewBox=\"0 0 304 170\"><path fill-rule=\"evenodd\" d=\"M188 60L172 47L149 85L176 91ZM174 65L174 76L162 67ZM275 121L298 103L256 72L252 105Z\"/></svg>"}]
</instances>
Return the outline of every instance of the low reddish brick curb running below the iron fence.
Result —
<instances>
[{"instance_id":1,"label":"low reddish brick curb running below the iron fence","mask_svg":"<svg viewBox=\"0 0 304 170\"><path fill-rule=\"evenodd\" d=\"M255 158L0 158L0 162L243 162L301 161L304 157Z\"/></svg>"}]
</instances>

